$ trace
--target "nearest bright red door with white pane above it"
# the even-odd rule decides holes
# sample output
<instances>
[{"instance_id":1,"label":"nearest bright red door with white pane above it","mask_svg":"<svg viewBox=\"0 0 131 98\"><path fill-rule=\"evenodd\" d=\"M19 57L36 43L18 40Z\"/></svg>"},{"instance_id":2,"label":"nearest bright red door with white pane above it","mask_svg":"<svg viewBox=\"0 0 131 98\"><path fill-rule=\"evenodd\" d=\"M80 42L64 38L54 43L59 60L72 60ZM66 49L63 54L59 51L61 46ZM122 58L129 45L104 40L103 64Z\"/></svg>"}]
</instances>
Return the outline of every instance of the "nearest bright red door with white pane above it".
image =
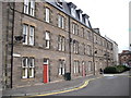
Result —
<instances>
[{"instance_id":1,"label":"nearest bright red door with white pane above it","mask_svg":"<svg viewBox=\"0 0 131 98\"><path fill-rule=\"evenodd\" d=\"M44 62L44 72L43 72L44 83L48 83L48 60Z\"/></svg>"}]
</instances>

